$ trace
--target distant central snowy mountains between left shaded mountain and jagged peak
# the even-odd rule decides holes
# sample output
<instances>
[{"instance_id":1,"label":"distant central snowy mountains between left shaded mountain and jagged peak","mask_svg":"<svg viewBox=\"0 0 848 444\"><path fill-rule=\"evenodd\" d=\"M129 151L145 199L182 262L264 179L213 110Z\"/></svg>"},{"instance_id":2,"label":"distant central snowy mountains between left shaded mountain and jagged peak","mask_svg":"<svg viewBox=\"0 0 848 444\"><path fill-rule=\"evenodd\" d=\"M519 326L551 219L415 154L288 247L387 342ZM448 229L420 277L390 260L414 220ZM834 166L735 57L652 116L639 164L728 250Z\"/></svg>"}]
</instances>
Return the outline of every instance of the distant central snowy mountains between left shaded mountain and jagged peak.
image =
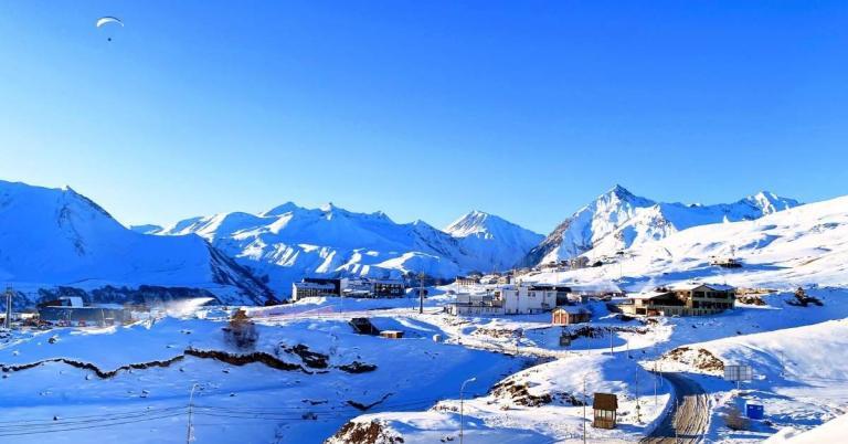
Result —
<instances>
[{"instance_id":1,"label":"distant central snowy mountains between left shaded mountain and jagged peak","mask_svg":"<svg viewBox=\"0 0 848 444\"><path fill-rule=\"evenodd\" d=\"M452 278L469 271L504 269L541 239L479 211L445 232L422 221L395 223L382 212L357 213L332 204L306 209L292 202L259 214L191 218L156 233L198 234L267 276L282 295L306 275L399 277L423 272Z\"/></svg>"}]
</instances>

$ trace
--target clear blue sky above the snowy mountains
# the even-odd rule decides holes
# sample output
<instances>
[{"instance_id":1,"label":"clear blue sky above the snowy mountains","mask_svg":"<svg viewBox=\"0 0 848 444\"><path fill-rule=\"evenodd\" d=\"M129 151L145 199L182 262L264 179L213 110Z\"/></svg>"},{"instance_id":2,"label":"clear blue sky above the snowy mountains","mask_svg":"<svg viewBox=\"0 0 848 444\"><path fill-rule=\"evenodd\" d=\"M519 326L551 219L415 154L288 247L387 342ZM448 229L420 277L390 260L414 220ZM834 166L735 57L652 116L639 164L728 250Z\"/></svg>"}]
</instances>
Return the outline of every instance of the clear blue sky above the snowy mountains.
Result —
<instances>
[{"instance_id":1,"label":"clear blue sky above the snowy mountains","mask_svg":"<svg viewBox=\"0 0 848 444\"><path fill-rule=\"evenodd\" d=\"M0 178L548 232L615 183L844 194L847 83L845 1L3 1Z\"/></svg>"}]
</instances>

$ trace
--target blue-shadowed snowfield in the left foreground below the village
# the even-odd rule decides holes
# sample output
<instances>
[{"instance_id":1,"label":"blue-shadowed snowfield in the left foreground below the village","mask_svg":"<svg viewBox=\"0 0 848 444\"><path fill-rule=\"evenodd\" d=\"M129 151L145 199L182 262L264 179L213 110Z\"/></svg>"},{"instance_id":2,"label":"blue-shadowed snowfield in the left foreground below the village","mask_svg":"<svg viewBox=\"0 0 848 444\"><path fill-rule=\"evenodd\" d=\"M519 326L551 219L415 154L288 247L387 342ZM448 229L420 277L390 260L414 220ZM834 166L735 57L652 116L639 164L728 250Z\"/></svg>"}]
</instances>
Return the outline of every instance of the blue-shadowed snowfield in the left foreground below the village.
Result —
<instances>
[{"instance_id":1,"label":"blue-shadowed snowfield in the left foreground below the village","mask_svg":"<svg viewBox=\"0 0 848 444\"><path fill-rule=\"evenodd\" d=\"M9 369L68 358L108 372L168 361L184 356L187 349L243 353L223 340L223 325L166 318L152 326L21 334L2 345L0 361ZM199 442L320 443L361 413L352 403L378 403L372 411L423 409L453 397L471 369L480 385L470 393L477 393L527 363L434 342L430 331L415 326L403 328L406 338L391 340L356 335L341 320L261 325L256 350L303 370L261 362L235 366L194 356L167 367L121 370L109 378L64 362L10 370L0 380L0 403L14 408L3 410L3 421L10 425L0 424L0 436L21 443L43 442L45 436L67 443L95 436L126 443L182 442L189 393L197 383L193 414ZM308 367L295 352L284 351L298 345L327 356L327 367ZM377 369L341 370L352 362ZM112 426L92 429L98 425ZM160 440L165 436L172 440Z\"/></svg>"}]
</instances>

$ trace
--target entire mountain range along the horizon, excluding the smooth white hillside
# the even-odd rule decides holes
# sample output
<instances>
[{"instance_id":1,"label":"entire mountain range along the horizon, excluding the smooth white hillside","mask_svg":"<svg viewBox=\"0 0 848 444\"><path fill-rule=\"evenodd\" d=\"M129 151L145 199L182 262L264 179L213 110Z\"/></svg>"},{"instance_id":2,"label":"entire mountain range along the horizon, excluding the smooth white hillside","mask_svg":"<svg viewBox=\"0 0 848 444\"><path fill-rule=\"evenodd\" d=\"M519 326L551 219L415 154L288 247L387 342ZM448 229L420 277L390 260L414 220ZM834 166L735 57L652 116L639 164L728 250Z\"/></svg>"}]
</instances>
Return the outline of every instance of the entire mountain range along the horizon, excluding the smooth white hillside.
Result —
<instances>
[{"instance_id":1,"label":"entire mountain range along the horizon, excluding the smooth white hillside","mask_svg":"<svg viewBox=\"0 0 848 444\"><path fill-rule=\"evenodd\" d=\"M91 292L145 285L262 304L274 295L285 298L292 283L307 275L425 273L449 279L517 264L608 256L692 226L755 220L798 204L770 192L730 204L662 203L616 186L548 236L481 211L438 230L423 221L396 223L383 212L292 202L255 214L127 229L71 188L0 181L0 279L29 289L33 300L51 287Z\"/></svg>"}]
</instances>

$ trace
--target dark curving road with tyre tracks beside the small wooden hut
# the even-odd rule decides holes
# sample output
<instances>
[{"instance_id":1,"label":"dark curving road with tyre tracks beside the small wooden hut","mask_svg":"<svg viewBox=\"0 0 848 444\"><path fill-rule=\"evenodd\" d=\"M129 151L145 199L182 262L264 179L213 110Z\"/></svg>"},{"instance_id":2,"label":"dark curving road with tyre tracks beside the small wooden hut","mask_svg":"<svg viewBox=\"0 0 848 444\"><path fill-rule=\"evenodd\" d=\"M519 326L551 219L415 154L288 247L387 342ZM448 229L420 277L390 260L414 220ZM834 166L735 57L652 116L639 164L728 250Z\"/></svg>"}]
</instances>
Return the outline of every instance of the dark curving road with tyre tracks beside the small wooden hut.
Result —
<instances>
[{"instance_id":1,"label":"dark curving road with tyre tracks beside the small wooden hut","mask_svg":"<svg viewBox=\"0 0 848 444\"><path fill-rule=\"evenodd\" d=\"M679 373L662 373L675 388L675 405L643 444L697 443L707 433L710 403L707 392L697 382Z\"/></svg>"}]
</instances>

